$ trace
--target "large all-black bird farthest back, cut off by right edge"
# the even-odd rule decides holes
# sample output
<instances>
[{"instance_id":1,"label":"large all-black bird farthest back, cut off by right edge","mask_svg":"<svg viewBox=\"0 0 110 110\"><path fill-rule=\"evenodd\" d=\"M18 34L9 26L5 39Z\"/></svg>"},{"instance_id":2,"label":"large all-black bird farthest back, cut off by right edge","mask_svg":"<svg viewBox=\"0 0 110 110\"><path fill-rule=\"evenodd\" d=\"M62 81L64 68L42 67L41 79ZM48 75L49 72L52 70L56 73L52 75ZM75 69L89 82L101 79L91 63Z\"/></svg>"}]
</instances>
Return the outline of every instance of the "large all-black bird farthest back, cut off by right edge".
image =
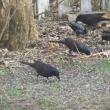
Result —
<instances>
[{"instance_id":1,"label":"large all-black bird farthest back, cut off by right edge","mask_svg":"<svg viewBox=\"0 0 110 110\"><path fill-rule=\"evenodd\" d=\"M96 26L100 21L110 20L110 18L104 18L105 13L95 13L95 14L79 14L76 18L77 21L81 21L88 26Z\"/></svg>"}]
</instances>

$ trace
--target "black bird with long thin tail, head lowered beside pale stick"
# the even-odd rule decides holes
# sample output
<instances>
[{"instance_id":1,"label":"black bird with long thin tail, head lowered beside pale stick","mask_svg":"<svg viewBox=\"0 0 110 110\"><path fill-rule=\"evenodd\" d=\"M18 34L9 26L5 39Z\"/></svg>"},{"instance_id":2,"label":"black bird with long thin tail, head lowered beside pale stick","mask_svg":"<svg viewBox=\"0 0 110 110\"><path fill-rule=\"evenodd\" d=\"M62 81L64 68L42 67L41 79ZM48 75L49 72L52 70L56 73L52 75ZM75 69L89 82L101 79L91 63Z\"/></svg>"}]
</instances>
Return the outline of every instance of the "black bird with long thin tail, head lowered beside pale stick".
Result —
<instances>
[{"instance_id":1,"label":"black bird with long thin tail, head lowered beside pale stick","mask_svg":"<svg viewBox=\"0 0 110 110\"><path fill-rule=\"evenodd\" d=\"M79 51L81 53L85 53L86 55L90 55L91 50L92 50L91 48L89 48L85 44L83 44L82 42L73 40L71 38L65 38L62 41L50 41L50 42L65 44L69 48L70 53L71 53L71 51L73 51L73 52Z\"/></svg>"}]
</instances>

